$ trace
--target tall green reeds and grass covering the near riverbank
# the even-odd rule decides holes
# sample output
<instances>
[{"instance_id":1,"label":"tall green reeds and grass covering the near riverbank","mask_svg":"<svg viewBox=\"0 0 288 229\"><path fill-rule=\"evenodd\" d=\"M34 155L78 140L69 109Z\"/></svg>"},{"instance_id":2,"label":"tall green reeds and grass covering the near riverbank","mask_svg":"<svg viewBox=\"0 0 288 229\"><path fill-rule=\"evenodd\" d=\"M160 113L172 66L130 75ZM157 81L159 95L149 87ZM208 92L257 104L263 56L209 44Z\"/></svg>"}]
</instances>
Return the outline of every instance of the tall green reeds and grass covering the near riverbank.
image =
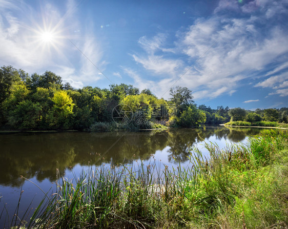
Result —
<instances>
[{"instance_id":1,"label":"tall green reeds and grass covering the near riverbank","mask_svg":"<svg viewBox=\"0 0 288 229\"><path fill-rule=\"evenodd\" d=\"M271 130L249 147L207 143L210 159L193 149L186 169L91 167L62 178L29 223L15 214L6 228L285 228L287 139L287 131Z\"/></svg>"}]
</instances>

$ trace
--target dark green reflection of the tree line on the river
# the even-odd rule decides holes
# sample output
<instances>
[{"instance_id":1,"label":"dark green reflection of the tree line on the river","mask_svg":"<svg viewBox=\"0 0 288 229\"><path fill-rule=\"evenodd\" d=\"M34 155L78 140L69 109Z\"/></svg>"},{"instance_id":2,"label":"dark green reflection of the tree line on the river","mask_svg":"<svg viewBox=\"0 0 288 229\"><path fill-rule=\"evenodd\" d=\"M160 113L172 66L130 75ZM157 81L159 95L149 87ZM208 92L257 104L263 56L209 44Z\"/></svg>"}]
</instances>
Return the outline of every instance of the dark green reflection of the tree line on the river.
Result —
<instances>
[{"instance_id":1,"label":"dark green reflection of the tree line on the river","mask_svg":"<svg viewBox=\"0 0 288 229\"><path fill-rule=\"evenodd\" d=\"M38 181L56 179L73 170L76 164L126 163L136 159L148 160L156 151L168 147L163 157L168 161L188 160L189 149L199 141L215 136L216 139L242 141L247 135L256 135L261 129L225 127L202 129L170 129L142 132L61 132L17 133L0 135L0 184L19 186L26 178Z\"/></svg>"}]
</instances>

